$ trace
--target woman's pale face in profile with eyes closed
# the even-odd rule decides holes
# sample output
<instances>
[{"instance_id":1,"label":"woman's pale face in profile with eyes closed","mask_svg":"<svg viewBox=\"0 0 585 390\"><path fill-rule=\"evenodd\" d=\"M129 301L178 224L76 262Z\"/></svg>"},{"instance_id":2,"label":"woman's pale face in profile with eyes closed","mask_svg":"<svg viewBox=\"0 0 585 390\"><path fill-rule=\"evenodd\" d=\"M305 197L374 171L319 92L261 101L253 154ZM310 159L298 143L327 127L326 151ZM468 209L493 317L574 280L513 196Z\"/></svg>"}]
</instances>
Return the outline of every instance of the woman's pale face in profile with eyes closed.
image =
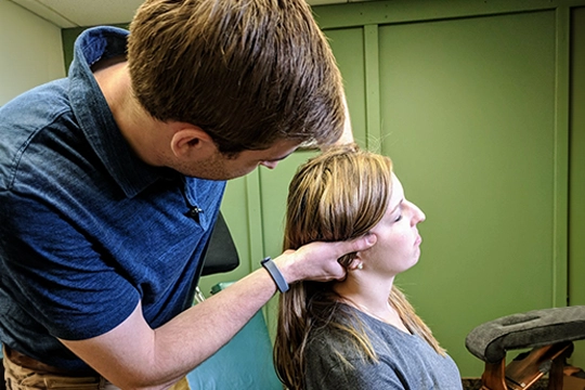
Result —
<instances>
[{"instance_id":1,"label":"woman's pale face in profile with eyes closed","mask_svg":"<svg viewBox=\"0 0 585 390\"><path fill-rule=\"evenodd\" d=\"M392 195L382 219L370 232L378 240L368 250L361 252L364 271L385 276L394 276L416 264L420 256L421 238L417 224L425 213L406 200L404 188L392 173Z\"/></svg>"}]
</instances>

